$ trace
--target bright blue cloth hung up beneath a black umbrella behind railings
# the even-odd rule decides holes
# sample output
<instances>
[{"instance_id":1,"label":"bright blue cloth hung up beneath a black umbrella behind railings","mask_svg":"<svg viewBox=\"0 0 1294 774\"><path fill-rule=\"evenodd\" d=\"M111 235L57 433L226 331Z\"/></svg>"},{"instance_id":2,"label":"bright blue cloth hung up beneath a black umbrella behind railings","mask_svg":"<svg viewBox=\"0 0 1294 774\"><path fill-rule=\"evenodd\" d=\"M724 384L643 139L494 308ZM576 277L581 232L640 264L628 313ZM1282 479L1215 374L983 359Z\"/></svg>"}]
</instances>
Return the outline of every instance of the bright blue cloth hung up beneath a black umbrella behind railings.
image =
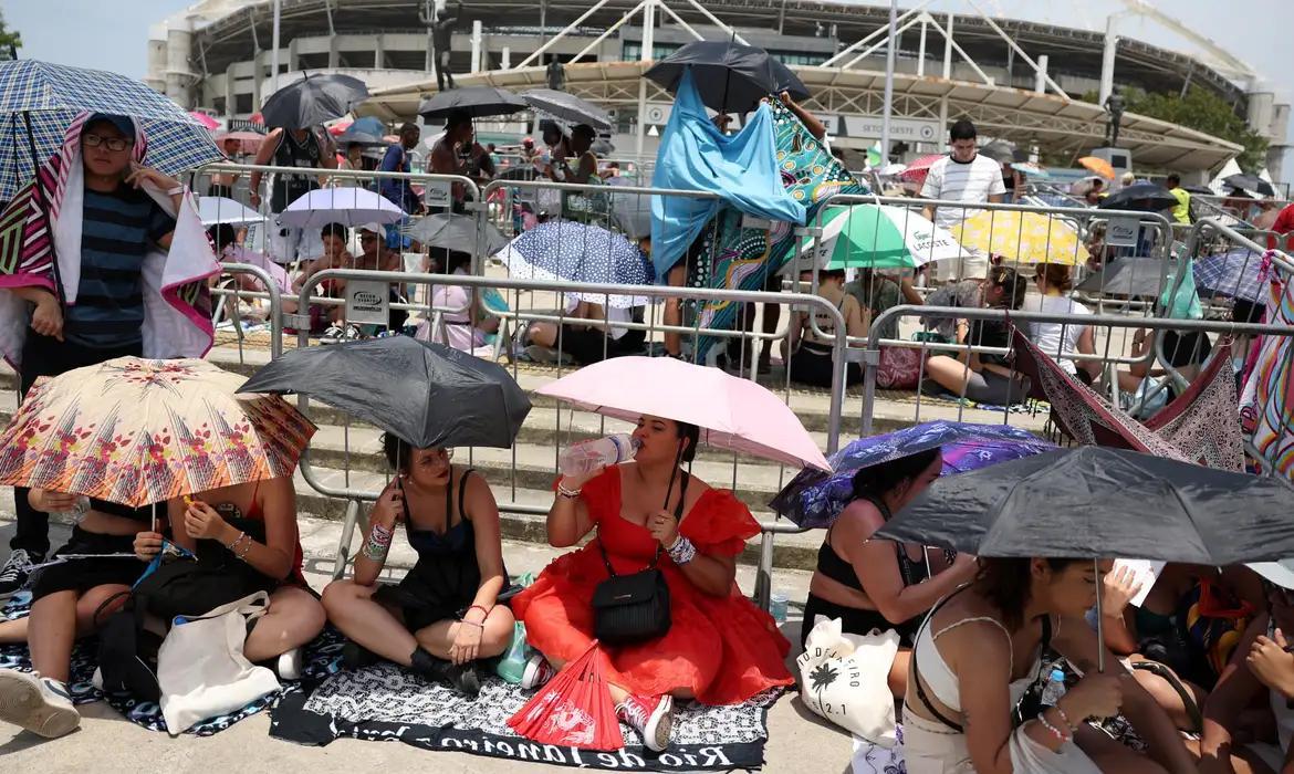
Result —
<instances>
[{"instance_id":1,"label":"bright blue cloth hung up beneath a black umbrella behind railings","mask_svg":"<svg viewBox=\"0 0 1294 774\"><path fill-rule=\"evenodd\" d=\"M804 225L805 207L785 192L778 168L773 111L760 105L736 135L721 133L709 115L688 70L678 84L652 185L713 192L748 215ZM683 258L705 224L718 212L719 199L652 197L651 249L656 281Z\"/></svg>"}]
</instances>

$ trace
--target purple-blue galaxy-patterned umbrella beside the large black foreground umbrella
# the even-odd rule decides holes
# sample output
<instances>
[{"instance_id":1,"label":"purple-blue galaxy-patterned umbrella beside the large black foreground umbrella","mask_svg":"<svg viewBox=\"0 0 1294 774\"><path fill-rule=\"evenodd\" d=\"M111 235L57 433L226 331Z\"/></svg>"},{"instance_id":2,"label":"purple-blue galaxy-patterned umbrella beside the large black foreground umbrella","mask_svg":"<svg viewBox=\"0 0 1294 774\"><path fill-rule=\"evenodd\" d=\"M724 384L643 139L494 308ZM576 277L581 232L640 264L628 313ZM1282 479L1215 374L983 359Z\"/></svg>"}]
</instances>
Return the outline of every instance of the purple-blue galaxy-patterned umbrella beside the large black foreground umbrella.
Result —
<instances>
[{"instance_id":1,"label":"purple-blue galaxy-patterned umbrella beside the large black foreground umbrella","mask_svg":"<svg viewBox=\"0 0 1294 774\"><path fill-rule=\"evenodd\" d=\"M836 472L802 470L769 505L801 527L829 527L854 500L855 472L936 447L943 449L942 475L969 472L1056 448L1009 425L925 422L853 441L831 456Z\"/></svg>"}]
</instances>

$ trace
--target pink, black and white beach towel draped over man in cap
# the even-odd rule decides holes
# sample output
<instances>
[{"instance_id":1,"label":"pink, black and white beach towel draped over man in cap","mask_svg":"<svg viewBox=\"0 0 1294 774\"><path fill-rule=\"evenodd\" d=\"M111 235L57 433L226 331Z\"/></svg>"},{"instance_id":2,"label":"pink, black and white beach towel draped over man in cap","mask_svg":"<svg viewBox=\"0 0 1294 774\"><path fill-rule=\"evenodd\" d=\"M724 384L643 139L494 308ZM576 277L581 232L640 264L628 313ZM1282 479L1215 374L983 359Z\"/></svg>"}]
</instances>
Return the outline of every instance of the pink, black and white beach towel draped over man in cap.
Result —
<instances>
[{"instance_id":1,"label":"pink, black and white beach towel draped over man in cap","mask_svg":"<svg viewBox=\"0 0 1294 774\"><path fill-rule=\"evenodd\" d=\"M88 118L82 113L72 120L58 153L0 215L0 351L16 368L27 338L27 303L10 289L44 287L61 293L66 305L76 303L85 190L80 133ZM148 140L138 120L135 137L133 158L141 162ZM220 265L189 192L179 212L166 192L154 186L145 192L176 219L176 227L171 249L153 249L144 259L144 356L202 357L214 342L206 280Z\"/></svg>"}]
</instances>

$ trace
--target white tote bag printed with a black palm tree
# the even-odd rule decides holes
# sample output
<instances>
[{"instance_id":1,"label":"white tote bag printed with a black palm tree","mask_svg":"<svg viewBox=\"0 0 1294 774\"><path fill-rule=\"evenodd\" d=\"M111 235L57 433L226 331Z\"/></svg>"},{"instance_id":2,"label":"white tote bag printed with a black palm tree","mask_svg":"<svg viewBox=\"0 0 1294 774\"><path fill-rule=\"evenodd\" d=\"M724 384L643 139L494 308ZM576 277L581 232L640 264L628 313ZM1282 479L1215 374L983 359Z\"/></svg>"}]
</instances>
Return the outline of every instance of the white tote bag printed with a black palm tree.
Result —
<instances>
[{"instance_id":1,"label":"white tote bag printed with a black palm tree","mask_svg":"<svg viewBox=\"0 0 1294 774\"><path fill-rule=\"evenodd\" d=\"M805 652L796 659L800 699L809 709L858 736L893 747L894 696L889 670L898 654L893 629L871 634L841 632L840 619L818 617Z\"/></svg>"}]
</instances>

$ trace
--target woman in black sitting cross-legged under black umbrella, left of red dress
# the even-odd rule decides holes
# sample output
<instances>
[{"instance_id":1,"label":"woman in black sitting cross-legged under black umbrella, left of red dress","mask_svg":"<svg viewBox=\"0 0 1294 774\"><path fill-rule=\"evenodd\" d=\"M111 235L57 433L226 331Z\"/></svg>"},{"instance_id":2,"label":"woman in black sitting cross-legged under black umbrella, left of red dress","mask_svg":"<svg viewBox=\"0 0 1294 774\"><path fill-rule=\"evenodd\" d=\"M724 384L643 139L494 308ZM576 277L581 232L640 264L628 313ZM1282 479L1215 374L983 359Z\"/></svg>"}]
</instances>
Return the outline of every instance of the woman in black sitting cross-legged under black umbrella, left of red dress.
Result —
<instances>
[{"instance_id":1,"label":"woman in black sitting cross-legged under black umbrella, left of red dress","mask_svg":"<svg viewBox=\"0 0 1294 774\"><path fill-rule=\"evenodd\" d=\"M348 667L380 656L475 698L476 661L512 641L512 614L497 604L507 573L494 494L450 463L452 449L415 449L389 432L382 447L396 478L369 514L355 575L329 584L324 607L351 639ZM418 562L399 584L379 584L401 522Z\"/></svg>"}]
</instances>

